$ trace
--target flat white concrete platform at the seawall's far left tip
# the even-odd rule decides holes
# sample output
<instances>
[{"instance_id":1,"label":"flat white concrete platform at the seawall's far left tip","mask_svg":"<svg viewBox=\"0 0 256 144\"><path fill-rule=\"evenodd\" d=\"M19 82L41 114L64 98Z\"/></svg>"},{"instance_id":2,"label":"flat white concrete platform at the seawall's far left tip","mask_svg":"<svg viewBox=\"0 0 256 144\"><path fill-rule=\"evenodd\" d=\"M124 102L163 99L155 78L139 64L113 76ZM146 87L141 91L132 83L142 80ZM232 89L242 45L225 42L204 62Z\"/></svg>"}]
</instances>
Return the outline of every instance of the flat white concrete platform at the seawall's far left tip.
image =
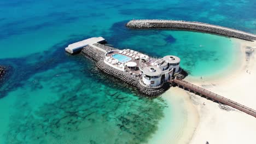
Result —
<instances>
[{"instance_id":1,"label":"flat white concrete platform at the seawall's far left tip","mask_svg":"<svg viewBox=\"0 0 256 144\"><path fill-rule=\"evenodd\" d=\"M83 49L83 47L90 45L90 44L96 44L96 43L103 43L106 40L102 37L93 37L89 39L85 39L82 41L78 41L77 43L73 43L68 45L68 47L65 48L65 50L68 53L75 53Z\"/></svg>"}]
</instances>

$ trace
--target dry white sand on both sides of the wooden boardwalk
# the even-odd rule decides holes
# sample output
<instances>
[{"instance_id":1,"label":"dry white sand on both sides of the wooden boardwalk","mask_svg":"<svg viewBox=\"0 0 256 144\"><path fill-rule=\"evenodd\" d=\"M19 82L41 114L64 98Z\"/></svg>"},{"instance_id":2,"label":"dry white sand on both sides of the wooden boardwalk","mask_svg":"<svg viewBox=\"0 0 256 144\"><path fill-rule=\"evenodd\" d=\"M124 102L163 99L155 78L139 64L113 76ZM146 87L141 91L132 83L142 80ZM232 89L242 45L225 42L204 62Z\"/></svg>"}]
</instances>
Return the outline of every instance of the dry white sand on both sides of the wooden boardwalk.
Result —
<instances>
[{"instance_id":1,"label":"dry white sand on both sides of the wooden boardwalk","mask_svg":"<svg viewBox=\"0 0 256 144\"><path fill-rule=\"evenodd\" d=\"M236 70L229 75L214 77L214 80L186 79L223 97L229 98L252 109L256 109L256 42L236 40L240 44L241 55L237 57ZM248 58L246 47L254 52ZM247 51L250 49L247 48ZM251 50L251 51L252 51ZM241 61L241 62L239 62ZM247 71L248 70L248 71ZM255 143L256 118L241 111L225 111L217 103L190 93L197 107L200 120L191 144L206 143ZM204 105L205 104L205 105Z\"/></svg>"}]
</instances>

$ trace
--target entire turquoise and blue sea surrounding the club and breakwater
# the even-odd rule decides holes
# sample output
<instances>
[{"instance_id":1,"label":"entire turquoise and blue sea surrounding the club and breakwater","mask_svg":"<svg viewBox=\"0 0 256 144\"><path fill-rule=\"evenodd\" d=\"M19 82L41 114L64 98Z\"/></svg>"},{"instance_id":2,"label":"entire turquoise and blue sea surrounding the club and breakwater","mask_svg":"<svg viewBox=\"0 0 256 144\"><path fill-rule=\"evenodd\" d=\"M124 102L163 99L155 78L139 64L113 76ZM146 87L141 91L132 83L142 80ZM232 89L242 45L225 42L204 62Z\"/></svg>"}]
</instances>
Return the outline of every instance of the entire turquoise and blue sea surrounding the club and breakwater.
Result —
<instances>
[{"instance_id":1,"label":"entire turquoise and blue sea surrounding the club and breakwater","mask_svg":"<svg viewBox=\"0 0 256 144\"><path fill-rule=\"evenodd\" d=\"M170 105L160 97L141 97L64 48L102 36L120 49L181 57L182 68L192 76L214 75L235 62L234 40L196 32L130 30L125 23L201 21L256 33L255 5L203 0L1 1L0 65L9 65L10 75L0 84L0 143L147 142Z\"/></svg>"}]
</instances>

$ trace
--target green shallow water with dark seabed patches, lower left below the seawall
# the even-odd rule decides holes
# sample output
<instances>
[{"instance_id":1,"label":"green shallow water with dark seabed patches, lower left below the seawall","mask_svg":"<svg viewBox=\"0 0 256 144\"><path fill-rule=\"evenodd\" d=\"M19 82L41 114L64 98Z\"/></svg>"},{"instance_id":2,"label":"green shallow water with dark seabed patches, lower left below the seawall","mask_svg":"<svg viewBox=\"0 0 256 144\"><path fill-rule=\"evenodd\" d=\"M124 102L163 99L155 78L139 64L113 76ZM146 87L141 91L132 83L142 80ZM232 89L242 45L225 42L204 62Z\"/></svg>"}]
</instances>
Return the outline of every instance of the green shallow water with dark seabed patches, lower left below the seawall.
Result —
<instances>
[{"instance_id":1,"label":"green shallow water with dark seabed patches, lower left below the seawall","mask_svg":"<svg viewBox=\"0 0 256 144\"><path fill-rule=\"evenodd\" d=\"M23 87L7 95L5 98L12 100L8 107L3 106L5 98L1 101L5 112L2 111L4 133L1 130L0 140L7 143L147 142L147 137L157 129L155 124L164 117L165 101L138 97L136 89L107 80L108 76L95 79L99 71L89 72L93 65L83 62L88 66L77 67L77 63L68 62L33 75ZM81 75L80 71L91 74Z\"/></svg>"}]
</instances>

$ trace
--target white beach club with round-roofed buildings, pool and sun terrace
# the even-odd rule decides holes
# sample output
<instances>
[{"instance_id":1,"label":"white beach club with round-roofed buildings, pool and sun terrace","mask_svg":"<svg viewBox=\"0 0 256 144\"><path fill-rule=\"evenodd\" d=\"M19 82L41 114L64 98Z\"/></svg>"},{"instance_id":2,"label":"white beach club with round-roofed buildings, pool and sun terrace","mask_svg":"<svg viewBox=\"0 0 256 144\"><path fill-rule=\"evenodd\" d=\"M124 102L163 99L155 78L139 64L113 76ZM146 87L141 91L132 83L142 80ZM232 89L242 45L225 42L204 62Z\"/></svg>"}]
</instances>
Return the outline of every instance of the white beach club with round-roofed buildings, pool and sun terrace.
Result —
<instances>
[{"instance_id":1,"label":"white beach club with round-roofed buildings, pool and sun terrace","mask_svg":"<svg viewBox=\"0 0 256 144\"><path fill-rule=\"evenodd\" d=\"M161 87L179 71L176 56L153 58L143 53L127 50L110 50L105 53L104 63L112 68L139 78L139 83L148 88Z\"/></svg>"}]
</instances>

